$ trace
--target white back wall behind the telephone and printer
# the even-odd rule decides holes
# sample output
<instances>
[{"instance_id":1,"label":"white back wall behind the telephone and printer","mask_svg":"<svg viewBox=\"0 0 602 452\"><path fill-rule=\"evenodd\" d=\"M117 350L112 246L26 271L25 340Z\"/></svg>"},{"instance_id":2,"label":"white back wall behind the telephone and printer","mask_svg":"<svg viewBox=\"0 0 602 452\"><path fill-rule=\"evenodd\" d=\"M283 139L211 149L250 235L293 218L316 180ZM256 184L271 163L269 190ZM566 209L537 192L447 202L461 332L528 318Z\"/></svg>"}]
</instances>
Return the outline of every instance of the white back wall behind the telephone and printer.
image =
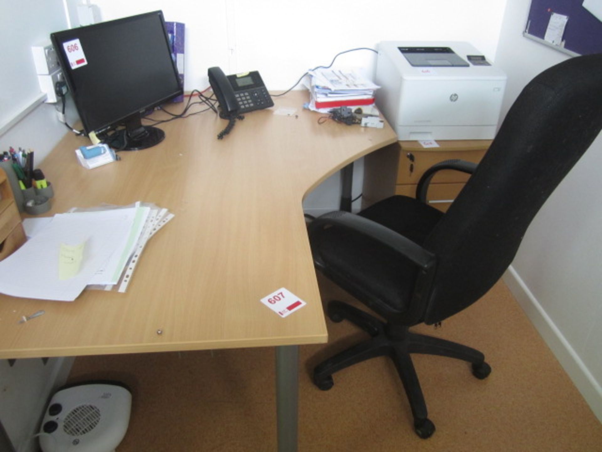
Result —
<instances>
[{"instance_id":1,"label":"white back wall behind the telephone and printer","mask_svg":"<svg viewBox=\"0 0 602 452\"><path fill-rule=\"evenodd\" d=\"M102 19L163 10L186 24L185 89L209 86L207 68L229 74L257 70L270 90L290 88L308 69L330 64L341 51L376 48L383 40L471 42L495 59L506 0L94 0ZM335 64L375 70L370 51L341 55ZM363 162L355 165L353 198L361 193ZM338 209L340 177L333 175L305 199L313 215ZM360 201L354 204L358 207Z\"/></svg>"}]
</instances>

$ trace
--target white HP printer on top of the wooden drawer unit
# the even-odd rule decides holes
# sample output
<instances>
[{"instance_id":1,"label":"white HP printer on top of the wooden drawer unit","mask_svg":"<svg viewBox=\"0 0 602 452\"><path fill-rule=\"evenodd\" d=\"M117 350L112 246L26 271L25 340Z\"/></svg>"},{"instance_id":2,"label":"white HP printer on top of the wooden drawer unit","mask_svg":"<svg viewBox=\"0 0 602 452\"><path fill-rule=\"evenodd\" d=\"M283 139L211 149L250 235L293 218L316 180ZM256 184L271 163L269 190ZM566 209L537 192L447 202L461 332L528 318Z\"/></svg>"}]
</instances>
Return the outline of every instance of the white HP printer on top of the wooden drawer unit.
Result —
<instances>
[{"instance_id":1,"label":"white HP printer on top of the wooden drawer unit","mask_svg":"<svg viewBox=\"0 0 602 452\"><path fill-rule=\"evenodd\" d=\"M506 74L465 42L379 45L376 105L400 140L492 139Z\"/></svg>"}]
</instances>

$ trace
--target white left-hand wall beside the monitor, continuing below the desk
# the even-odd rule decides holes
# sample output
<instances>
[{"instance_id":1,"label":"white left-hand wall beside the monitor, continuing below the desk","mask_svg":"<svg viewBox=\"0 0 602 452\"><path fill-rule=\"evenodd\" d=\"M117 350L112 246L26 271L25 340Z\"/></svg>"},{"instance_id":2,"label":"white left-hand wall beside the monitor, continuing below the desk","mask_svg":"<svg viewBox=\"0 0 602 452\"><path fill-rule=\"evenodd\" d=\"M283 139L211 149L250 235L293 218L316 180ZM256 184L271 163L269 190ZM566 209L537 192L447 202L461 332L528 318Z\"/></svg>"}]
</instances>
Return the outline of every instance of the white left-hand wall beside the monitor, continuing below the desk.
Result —
<instances>
[{"instance_id":1,"label":"white left-hand wall beside the monitor, continuing below the desk","mask_svg":"<svg viewBox=\"0 0 602 452\"><path fill-rule=\"evenodd\" d=\"M57 121L54 105L43 104L31 46L66 28L62 0L0 0L0 151L9 146L32 148L42 160L67 129ZM29 113L19 122L20 113ZM14 447L36 450L26 442L55 385L67 377L71 360L0 360L0 422Z\"/></svg>"}]
</instances>

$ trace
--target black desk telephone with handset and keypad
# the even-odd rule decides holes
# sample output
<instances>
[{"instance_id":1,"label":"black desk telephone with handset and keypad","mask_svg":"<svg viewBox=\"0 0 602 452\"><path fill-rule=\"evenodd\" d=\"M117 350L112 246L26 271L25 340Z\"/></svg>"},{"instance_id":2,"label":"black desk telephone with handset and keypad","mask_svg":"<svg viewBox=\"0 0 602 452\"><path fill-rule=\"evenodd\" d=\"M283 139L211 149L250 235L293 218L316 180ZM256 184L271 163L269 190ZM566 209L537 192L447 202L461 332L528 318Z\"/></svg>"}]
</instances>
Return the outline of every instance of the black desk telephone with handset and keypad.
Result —
<instances>
[{"instance_id":1,"label":"black desk telephone with handset and keypad","mask_svg":"<svg viewBox=\"0 0 602 452\"><path fill-rule=\"evenodd\" d=\"M209 67L209 84L217 97L220 118L230 119L253 110L274 106L259 72L226 76L219 67Z\"/></svg>"}]
</instances>

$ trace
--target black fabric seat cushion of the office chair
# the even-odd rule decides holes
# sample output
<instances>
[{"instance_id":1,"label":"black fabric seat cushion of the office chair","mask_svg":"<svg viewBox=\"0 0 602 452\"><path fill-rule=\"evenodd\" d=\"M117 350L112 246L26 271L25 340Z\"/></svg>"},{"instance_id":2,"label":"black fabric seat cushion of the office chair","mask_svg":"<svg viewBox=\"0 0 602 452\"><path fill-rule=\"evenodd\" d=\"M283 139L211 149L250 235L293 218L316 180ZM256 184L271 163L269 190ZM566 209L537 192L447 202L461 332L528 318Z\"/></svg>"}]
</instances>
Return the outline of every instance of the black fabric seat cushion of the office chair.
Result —
<instances>
[{"instance_id":1,"label":"black fabric seat cushion of the office chair","mask_svg":"<svg viewBox=\"0 0 602 452\"><path fill-rule=\"evenodd\" d=\"M443 214L416 199L392 196L359 215L421 245ZM340 227L321 231L312 246L320 247L327 277L370 309L382 316L408 309L417 269L399 253Z\"/></svg>"}]
</instances>

